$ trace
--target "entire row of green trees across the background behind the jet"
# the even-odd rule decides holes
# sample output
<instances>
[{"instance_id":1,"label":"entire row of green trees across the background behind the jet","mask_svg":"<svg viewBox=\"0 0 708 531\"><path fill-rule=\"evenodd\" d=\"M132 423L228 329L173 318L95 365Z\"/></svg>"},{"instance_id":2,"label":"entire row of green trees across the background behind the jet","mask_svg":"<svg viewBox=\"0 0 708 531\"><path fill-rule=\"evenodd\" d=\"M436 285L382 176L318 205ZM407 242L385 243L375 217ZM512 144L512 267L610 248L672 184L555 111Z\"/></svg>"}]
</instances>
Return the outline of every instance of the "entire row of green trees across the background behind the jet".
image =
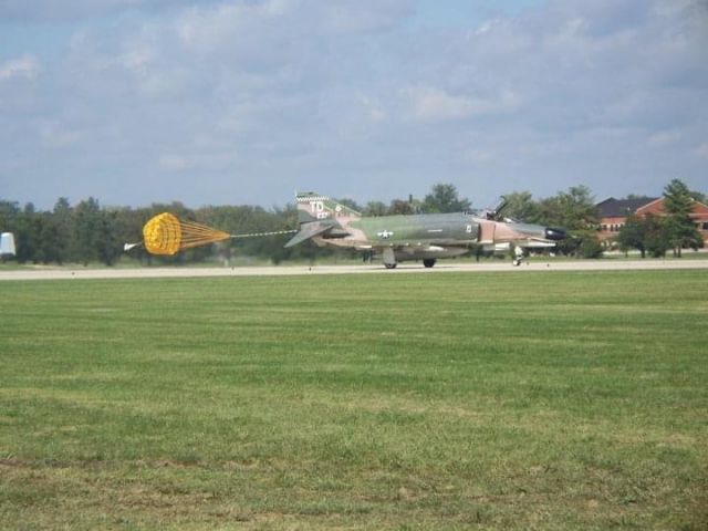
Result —
<instances>
[{"instance_id":1,"label":"entire row of green trees across the background behind the jet","mask_svg":"<svg viewBox=\"0 0 708 531\"><path fill-rule=\"evenodd\" d=\"M667 185L665 197L668 216L641 219L631 217L620 231L618 241L623 248L639 249L643 256L645 252L662 256L671 248L680 253L681 247L702 246L702 239L688 219L688 212L694 198L705 200L705 197L691 192L678 179ZM460 197L451 184L436 184L421 200L409 197L393 199L388 204L369 201L365 205L357 205L346 198L337 201L361 211L364 216L455 212L469 211L472 208L472 202ZM500 216L566 229L571 238L560 242L559 252L587 258L602 254L603 248L597 239L595 198L590 188L574 186L555 196L538 200L529 191L513 191L502 196L502 202L504 207L499 212ZM294 205L270 209L249 205L206 206L192 209L181 202L171 202L131 208L101 206L93 197L72 206L62 197L52 210L38 210L31 202L21 207L17 201L0 199L0 230L14 233L15 259L20 263L100 262L113 266L123 257L123 243L140 241L145 222L164 211L230 233L288 230L296 228L298 225ZM330 249L315 250L312 244L284 249L283 243L284 237L273 236L239 240L237 243L216 243L175 257L156 258L142 250L135 251L134 256L147 263L229 260L235 256L268 259L280 263L285 260L312 260L315 254L334 252Z\"/></svg>"}]
</instances>

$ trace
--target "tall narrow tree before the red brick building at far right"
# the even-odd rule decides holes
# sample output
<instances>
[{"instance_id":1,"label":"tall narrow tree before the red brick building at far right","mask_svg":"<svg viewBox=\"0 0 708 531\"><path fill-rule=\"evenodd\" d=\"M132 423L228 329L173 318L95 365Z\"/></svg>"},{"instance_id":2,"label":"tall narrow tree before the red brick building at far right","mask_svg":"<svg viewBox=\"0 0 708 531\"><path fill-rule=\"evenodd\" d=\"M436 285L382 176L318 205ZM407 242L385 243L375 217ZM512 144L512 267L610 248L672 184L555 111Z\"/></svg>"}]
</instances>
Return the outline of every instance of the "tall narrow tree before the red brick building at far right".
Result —
<instances>
[{"instance_id":1,"label":"tall narrow tree before the red brick building at far right","mask_svg":"<svg viewBox=\"0 0 708 531\"><path fill-rule=\"evenodd\" d=\"M702 237L690 219L694 198L688 187L680 179L673 179L664 188L664 208L666 209L666 230L674 256L681 256L681 248L702 247Z\"/></svg>"}]
</instances>

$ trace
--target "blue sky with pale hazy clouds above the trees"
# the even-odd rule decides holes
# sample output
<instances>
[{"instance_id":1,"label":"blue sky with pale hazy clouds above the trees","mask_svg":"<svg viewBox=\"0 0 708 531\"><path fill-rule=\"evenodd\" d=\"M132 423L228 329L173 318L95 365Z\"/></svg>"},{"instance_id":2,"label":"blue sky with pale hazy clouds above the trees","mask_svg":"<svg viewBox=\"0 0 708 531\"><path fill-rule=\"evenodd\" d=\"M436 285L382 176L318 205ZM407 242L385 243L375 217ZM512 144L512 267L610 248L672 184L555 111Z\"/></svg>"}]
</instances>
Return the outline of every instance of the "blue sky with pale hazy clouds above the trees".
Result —
<instances>
[{"instance_id":1,"label":"blue sky with pale hazy clouds above the trees","mask_svg":"<svg viewBox=\"0 0 708 531\"><path fill-rule=\"evenodd\" d=\"M0 0L0 199L708 192L708 0Z\"/></svg>"}]
</instances>

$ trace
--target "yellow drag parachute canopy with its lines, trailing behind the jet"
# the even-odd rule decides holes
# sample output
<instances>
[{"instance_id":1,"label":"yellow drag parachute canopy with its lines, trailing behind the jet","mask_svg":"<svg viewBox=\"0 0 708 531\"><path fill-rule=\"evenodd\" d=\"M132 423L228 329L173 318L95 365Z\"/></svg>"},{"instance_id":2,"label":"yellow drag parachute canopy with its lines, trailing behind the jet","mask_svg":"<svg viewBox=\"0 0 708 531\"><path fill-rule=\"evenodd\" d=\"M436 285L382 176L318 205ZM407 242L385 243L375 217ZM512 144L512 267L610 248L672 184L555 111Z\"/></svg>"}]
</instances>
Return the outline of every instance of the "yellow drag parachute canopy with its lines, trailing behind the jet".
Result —
<instances>
[{"instance_id":1,"label":"yellow drag parachute canopy with its lines, trailing behind the jet","mask_svg":"<svg viewBox=\"0 0 708 531\"><path fill-rule=\"evenodd\" d=\"M169 212L152 218L143 227L145 249L152 254L176 254L183 249L228 240L231 235L194 221L180 221Z\"/></svg>"}]
</instances>

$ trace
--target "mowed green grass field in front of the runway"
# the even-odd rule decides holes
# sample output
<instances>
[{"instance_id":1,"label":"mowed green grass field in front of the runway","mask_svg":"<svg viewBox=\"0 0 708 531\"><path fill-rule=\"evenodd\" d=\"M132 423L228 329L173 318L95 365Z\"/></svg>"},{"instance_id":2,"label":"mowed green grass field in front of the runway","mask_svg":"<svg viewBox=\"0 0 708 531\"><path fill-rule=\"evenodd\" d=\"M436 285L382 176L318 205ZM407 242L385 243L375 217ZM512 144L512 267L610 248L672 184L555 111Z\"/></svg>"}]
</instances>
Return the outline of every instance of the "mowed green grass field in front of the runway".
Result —
<instances>
[{"instance_id":1,"label":"mowed green grass field in front of the runway","mask_svg":"<svg viewBox=\"0 0 708 531\"><path fill-rule=\"evenodd\" d=\"M708 272L0 283L3 529L708 527Z\"/></svg>"}]
</instances>

